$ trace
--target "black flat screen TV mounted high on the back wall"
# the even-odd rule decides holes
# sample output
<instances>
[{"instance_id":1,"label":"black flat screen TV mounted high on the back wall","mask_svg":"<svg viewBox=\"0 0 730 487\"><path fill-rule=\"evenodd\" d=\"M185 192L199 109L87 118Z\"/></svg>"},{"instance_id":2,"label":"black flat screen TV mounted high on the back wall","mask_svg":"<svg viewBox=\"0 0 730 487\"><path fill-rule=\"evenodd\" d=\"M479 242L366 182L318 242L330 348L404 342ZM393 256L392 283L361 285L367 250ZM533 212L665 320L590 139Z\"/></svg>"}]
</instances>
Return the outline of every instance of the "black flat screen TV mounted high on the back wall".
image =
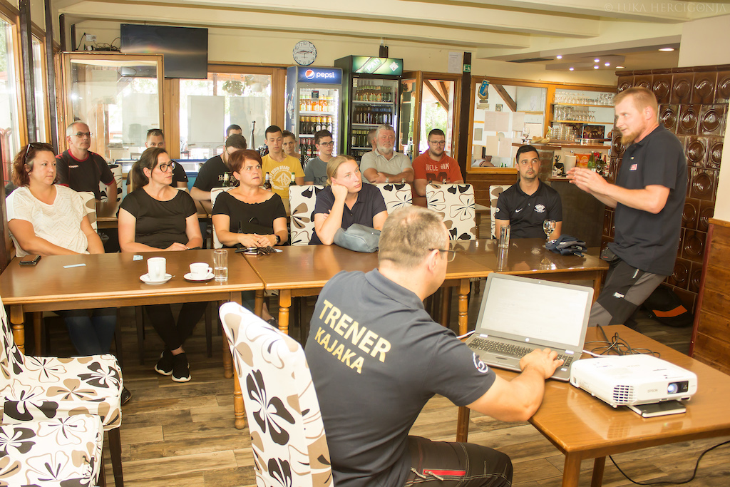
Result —
<instances>
[{"instance_id":1,"label":"black flat screen TV mounted high on the back wall","mask_svg":"<svg viewBox=\"0 0 730 487\"><path fill-rule=\"evenodd\" d=\"M208 29L121 24L123 53L162 54L166 78L208 77Z\"/></svg>"}]
</instances>

